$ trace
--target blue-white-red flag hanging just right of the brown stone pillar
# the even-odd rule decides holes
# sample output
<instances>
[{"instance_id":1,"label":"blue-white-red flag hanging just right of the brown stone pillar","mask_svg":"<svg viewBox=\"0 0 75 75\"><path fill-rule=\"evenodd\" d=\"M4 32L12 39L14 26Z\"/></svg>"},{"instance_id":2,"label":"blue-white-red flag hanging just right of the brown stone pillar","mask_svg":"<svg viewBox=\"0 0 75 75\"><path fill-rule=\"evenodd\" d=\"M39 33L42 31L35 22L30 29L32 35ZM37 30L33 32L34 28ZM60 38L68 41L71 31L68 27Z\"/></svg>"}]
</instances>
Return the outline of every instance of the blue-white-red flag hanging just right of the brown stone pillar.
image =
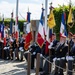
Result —
<instances>
[{"instance_id":1,"label":"blue-white-red flag hanging just right of the brown stone pillar","mask_svg":"<svg viewBox=\"0 0 75 75\"><path fill-rule=\"evenodd\" d=\"M44 9L42 8L41 18L39 21L38 34L37 34L37 44L40 48L42 48L45 40L45 32L44 32Z\"/></svg>"}]
</instances>

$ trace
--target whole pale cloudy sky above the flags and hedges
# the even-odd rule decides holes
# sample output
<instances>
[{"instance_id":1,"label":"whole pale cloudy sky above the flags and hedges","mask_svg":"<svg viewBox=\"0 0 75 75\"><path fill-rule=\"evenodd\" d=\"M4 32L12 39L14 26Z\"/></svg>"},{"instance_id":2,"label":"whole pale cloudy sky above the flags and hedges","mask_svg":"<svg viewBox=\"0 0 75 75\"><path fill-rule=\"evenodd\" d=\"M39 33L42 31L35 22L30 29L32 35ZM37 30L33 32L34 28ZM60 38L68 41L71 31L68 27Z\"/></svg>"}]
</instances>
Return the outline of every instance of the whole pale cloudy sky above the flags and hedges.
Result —
<instances>
[{"instance_id":1,"label":"whole pale cloudy sky above the flags and hedges","mask_svg":"<svg viewBox=\"0 0 75 75\"><path fill-rule=\"evenodd\" d=\"M0 17L4 15L5 18L11 18L11 12L14 13L14 19L16 16L16 1L17 0L0 0ZM19 11L18 18L26 19L27 11L31 12L31 19L40 19L42 3L45 7L45 0L18 0L19 1ZM75 4L75 0L71 0ZM49 12L49 4L53 3L53 7L58 7L60 5L68 5L69 0L48 0L47 12Z\"/></svg>"}]
</instances>

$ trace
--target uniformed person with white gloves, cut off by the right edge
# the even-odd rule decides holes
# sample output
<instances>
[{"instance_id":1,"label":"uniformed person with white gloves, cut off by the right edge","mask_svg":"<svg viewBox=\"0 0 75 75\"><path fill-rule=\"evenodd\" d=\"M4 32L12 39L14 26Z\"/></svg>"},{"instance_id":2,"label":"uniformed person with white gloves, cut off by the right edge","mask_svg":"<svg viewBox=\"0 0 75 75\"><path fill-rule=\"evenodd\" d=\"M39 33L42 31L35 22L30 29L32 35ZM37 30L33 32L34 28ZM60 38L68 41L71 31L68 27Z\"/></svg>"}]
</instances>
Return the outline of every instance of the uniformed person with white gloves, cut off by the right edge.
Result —
<instances>
[{"instance_id":1,"label":"uniformed person with white gloves, cut off by the right edge","mask_svg":"<svg viewBox=\"0 0 75 75\"><path fill-rule=\"evenodd\" d=\"M75 34L72 37L72 41L73 41L73 46L70 49L69 56L66 57L66 60L68 62L68 72L67 72L68 75L73 75L73 73L72 73L72 71L73 71L73 63L75 61Z\"/></svg>"}]
</instances>

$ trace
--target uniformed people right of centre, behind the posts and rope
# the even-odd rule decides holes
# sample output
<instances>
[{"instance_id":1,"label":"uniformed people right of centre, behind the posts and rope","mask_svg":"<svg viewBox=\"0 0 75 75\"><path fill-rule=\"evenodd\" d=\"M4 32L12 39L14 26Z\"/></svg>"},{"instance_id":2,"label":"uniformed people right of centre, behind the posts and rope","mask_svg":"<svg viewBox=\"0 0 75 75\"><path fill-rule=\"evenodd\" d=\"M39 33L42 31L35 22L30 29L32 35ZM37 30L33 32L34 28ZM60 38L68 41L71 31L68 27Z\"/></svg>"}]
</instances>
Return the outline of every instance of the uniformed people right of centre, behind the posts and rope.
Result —
<instances>
[{"instance_id":1,"label":"uniformed people right of centre, behind the posts and rope","mask_svg":"<svg viewBox=\"0 0 75 75\"><path fill-rule=\"evenodd\" d=\"M67 69L67 75L73 75L74 62L75 62L75 34L69 32L68 38L65 35L60 35L60 40L56 39L56 34L52 34L52 41L48 46L49 53L45 54L46 42L40 48L37 43L30 46L31 52L31 69L35 68L36 55L40 53L40 75L51 74L51 63L55 63L54 73L52 75L64 75L64 69ZM27 54L24 54L27 58ZM44 61L45 57L48 61ZM67 64L67 65L66 65ZM36 67L37 68L37 67Z\"/></svg>"}]
</instances>

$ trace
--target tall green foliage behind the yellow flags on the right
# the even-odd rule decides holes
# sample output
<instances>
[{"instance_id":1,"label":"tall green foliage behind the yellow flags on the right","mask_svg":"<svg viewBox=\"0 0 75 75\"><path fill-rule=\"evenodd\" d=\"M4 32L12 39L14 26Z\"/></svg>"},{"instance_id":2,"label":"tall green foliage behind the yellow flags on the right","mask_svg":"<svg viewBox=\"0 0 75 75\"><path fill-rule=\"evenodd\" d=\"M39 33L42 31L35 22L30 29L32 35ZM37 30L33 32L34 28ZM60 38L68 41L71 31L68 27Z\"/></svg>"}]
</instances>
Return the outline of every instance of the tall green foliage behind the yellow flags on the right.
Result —
<instances>
[{"instance_id":1,"label":"tall green foliage behind the yellow flags on the right","mask_svg":"<svg viewBox=\"0 0 75 75\"><path fill-rule=\"evenodd\" d=\"M69 6L64 6L64 12L66 13L66 28L67 28L67 33L68 31L71 31L73 34L75 34L75 7L72 7L72 12L74 16L74 25L72 28L70 28L67 25L67 18L69 14ZM56 26L53 28L53 31L57 34L57 39L59 39L59 33L60 33L60 25L61 25L61 15L63 13L63 8L54 8L54 16L55 16L55 21L56 21Z\"/></svg>"}]
</instances>

